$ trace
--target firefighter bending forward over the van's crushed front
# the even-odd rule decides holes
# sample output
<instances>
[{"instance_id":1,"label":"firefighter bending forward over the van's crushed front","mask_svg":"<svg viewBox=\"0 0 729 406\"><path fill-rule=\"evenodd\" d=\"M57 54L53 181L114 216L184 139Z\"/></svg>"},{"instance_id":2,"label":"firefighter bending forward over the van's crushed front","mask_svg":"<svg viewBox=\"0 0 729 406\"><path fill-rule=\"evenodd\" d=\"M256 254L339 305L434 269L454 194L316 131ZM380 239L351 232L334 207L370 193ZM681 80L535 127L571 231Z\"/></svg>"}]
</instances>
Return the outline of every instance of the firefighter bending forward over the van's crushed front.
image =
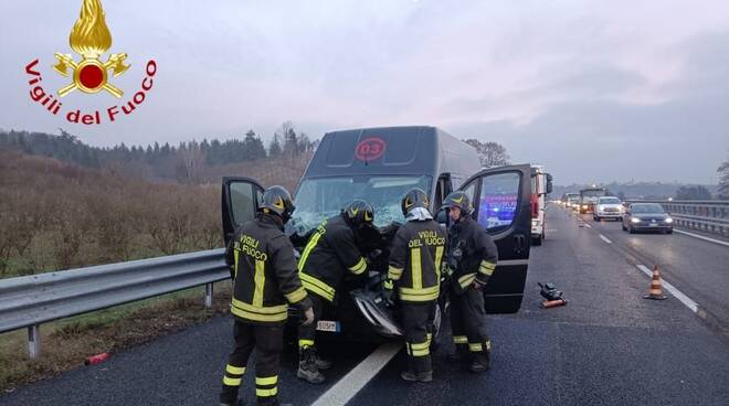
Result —
<instances>
[{"instance_id":1,"label":"firefighter bending forward over the van's crushed front","mask_svg":"<svg viewBox=\"0 0 729 406\"><path fill-rule=\"evenodd\" d=\"M346 273L363 275L367 260L357 246L358 232L371 227L374 218L372 206L356 200L341 213L324 221L311 234L298 270L304 288L310 293L315 320L298 329L299 363L296 376L313 384L325 382L320 370L331 367L316 351L315 335L318 319L325 304L335 304L337 288Z\"/></svg>"}]
</instances>

